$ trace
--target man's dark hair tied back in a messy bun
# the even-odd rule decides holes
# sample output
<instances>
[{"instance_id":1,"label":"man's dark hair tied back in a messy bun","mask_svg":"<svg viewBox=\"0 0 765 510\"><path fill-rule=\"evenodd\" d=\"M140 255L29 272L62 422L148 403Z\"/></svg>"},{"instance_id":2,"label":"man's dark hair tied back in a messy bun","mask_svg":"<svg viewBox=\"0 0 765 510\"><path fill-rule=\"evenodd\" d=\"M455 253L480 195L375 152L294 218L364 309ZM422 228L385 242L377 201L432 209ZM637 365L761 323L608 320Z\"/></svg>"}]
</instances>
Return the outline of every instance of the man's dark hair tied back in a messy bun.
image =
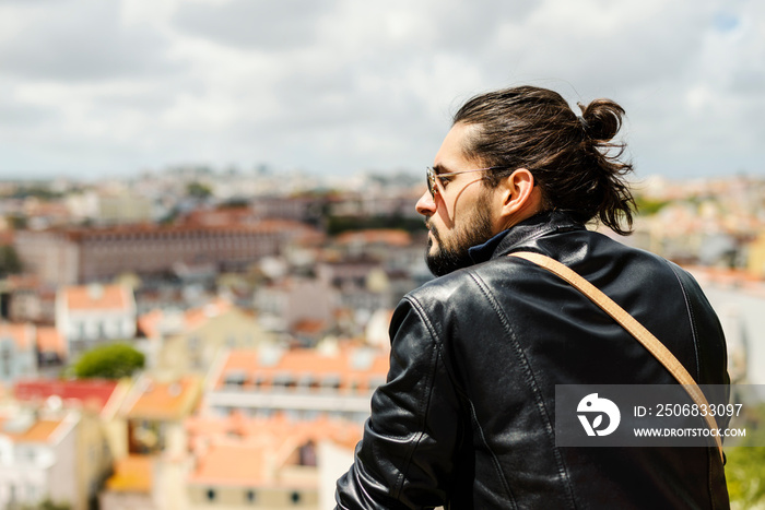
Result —
<instances>
[{"instance_id":1,"label":"man's dark hair tied back in a messy bun","mask_svg":"<svg viewBox=\"0 0 765 510\"><path fill-rule=\"evenodd\" d=\"M507 167L487 173L489 187L527 168L546 207L566 210L581 223L597 216L614 232L631 234L635 201L624 175L633 167L621 161L625 144L611 141L624 109L609 99L578 106L581 117L556 92L519 86L473 97L454 123L476 127L464 147L468 158Z\"/></svg>"}]
</instances>

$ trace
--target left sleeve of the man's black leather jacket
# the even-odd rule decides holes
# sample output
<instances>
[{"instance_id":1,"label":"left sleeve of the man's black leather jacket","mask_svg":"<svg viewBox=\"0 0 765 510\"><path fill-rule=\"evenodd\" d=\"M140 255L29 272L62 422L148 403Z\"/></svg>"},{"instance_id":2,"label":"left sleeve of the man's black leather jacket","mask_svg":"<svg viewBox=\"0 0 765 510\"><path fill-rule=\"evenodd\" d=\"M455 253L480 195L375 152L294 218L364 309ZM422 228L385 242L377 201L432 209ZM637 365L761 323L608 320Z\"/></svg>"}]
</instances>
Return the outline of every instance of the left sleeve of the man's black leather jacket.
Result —
<instances>
[{"instance_id":1,"label":"left sleeve of the man's black leather jacket","mask_svg":"<svg viewBox=\"0 0 765 510\"><path fill-rule=\"evenodd\" d=\"M452 486L459 399L436 330L409 296L393 313L390 337L387 382L375 391L354 463L338 481L339 509L434 508Z\"/></svg>"}]
</instances>

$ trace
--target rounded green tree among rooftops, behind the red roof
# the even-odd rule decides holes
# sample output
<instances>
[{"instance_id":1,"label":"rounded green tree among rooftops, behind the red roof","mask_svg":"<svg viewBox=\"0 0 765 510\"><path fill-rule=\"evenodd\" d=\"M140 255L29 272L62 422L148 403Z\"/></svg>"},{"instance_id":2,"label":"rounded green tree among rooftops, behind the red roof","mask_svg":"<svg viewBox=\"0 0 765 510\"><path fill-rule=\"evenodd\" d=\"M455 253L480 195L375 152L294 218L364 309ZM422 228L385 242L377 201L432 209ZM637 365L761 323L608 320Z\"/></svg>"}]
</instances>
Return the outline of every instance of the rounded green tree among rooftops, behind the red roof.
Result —
<instances>
[{"instance_id":1,"label":"rounded green tree among rooftops, behind the red roof","mask_svg":"<svg viewBox=\"0 0 765 510\"><path fill-rule=\"evenodd\" d=\"M127 343L115 343L83 354L74 364L73 372L78 379L120 379L143 368L144 363L143 353Z\"/></svg>"}]
</instances>

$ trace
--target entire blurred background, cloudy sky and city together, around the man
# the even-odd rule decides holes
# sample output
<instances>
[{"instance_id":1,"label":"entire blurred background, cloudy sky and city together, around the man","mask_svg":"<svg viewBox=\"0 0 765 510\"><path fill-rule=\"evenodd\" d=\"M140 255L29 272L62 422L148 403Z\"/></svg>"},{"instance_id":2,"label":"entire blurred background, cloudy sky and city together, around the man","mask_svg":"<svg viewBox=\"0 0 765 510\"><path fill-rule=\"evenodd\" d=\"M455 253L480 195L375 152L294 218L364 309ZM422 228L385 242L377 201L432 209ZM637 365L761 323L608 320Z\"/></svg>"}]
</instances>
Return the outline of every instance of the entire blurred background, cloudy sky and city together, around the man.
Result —
<instances>
[{"instance_id":1,"label":"entire blurred background, cloudy sky and city together, around the man","mask_svg":"<svg viewBox=\"0 0 765 510\"><path fill-rule=\"evenodd\" d=\"M625 108L621 241L765 383L762 62L755 0L0 1L0 507L332 508L432 277L424 167L504 86Z\"/></svg>"}]
</instances>

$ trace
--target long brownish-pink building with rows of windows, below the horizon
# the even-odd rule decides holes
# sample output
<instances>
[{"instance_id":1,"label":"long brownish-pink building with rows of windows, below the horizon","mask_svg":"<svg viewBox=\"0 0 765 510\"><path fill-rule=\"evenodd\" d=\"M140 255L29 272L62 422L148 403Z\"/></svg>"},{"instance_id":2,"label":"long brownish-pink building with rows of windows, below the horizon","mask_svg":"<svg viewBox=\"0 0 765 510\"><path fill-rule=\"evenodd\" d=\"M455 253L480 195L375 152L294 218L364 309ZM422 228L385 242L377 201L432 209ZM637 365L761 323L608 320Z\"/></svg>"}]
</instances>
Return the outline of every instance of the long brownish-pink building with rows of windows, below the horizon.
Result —
<instances>
[{"instance_id":1,"label":"long brownish-pink building with rows of windows, below the horizon","mask_svg":"<svg viewBox=\"0 0 765 510\"><path fill-rule=\"evenodd\" d=\"M252 225L123 225L102 228L20 230L14 245L24 268L45 284L73 285L122 273L164 275L174 265L212 263L243 270L287 242L315 230L305 224L267 220Z\"/></svg>"}]
</instances>

